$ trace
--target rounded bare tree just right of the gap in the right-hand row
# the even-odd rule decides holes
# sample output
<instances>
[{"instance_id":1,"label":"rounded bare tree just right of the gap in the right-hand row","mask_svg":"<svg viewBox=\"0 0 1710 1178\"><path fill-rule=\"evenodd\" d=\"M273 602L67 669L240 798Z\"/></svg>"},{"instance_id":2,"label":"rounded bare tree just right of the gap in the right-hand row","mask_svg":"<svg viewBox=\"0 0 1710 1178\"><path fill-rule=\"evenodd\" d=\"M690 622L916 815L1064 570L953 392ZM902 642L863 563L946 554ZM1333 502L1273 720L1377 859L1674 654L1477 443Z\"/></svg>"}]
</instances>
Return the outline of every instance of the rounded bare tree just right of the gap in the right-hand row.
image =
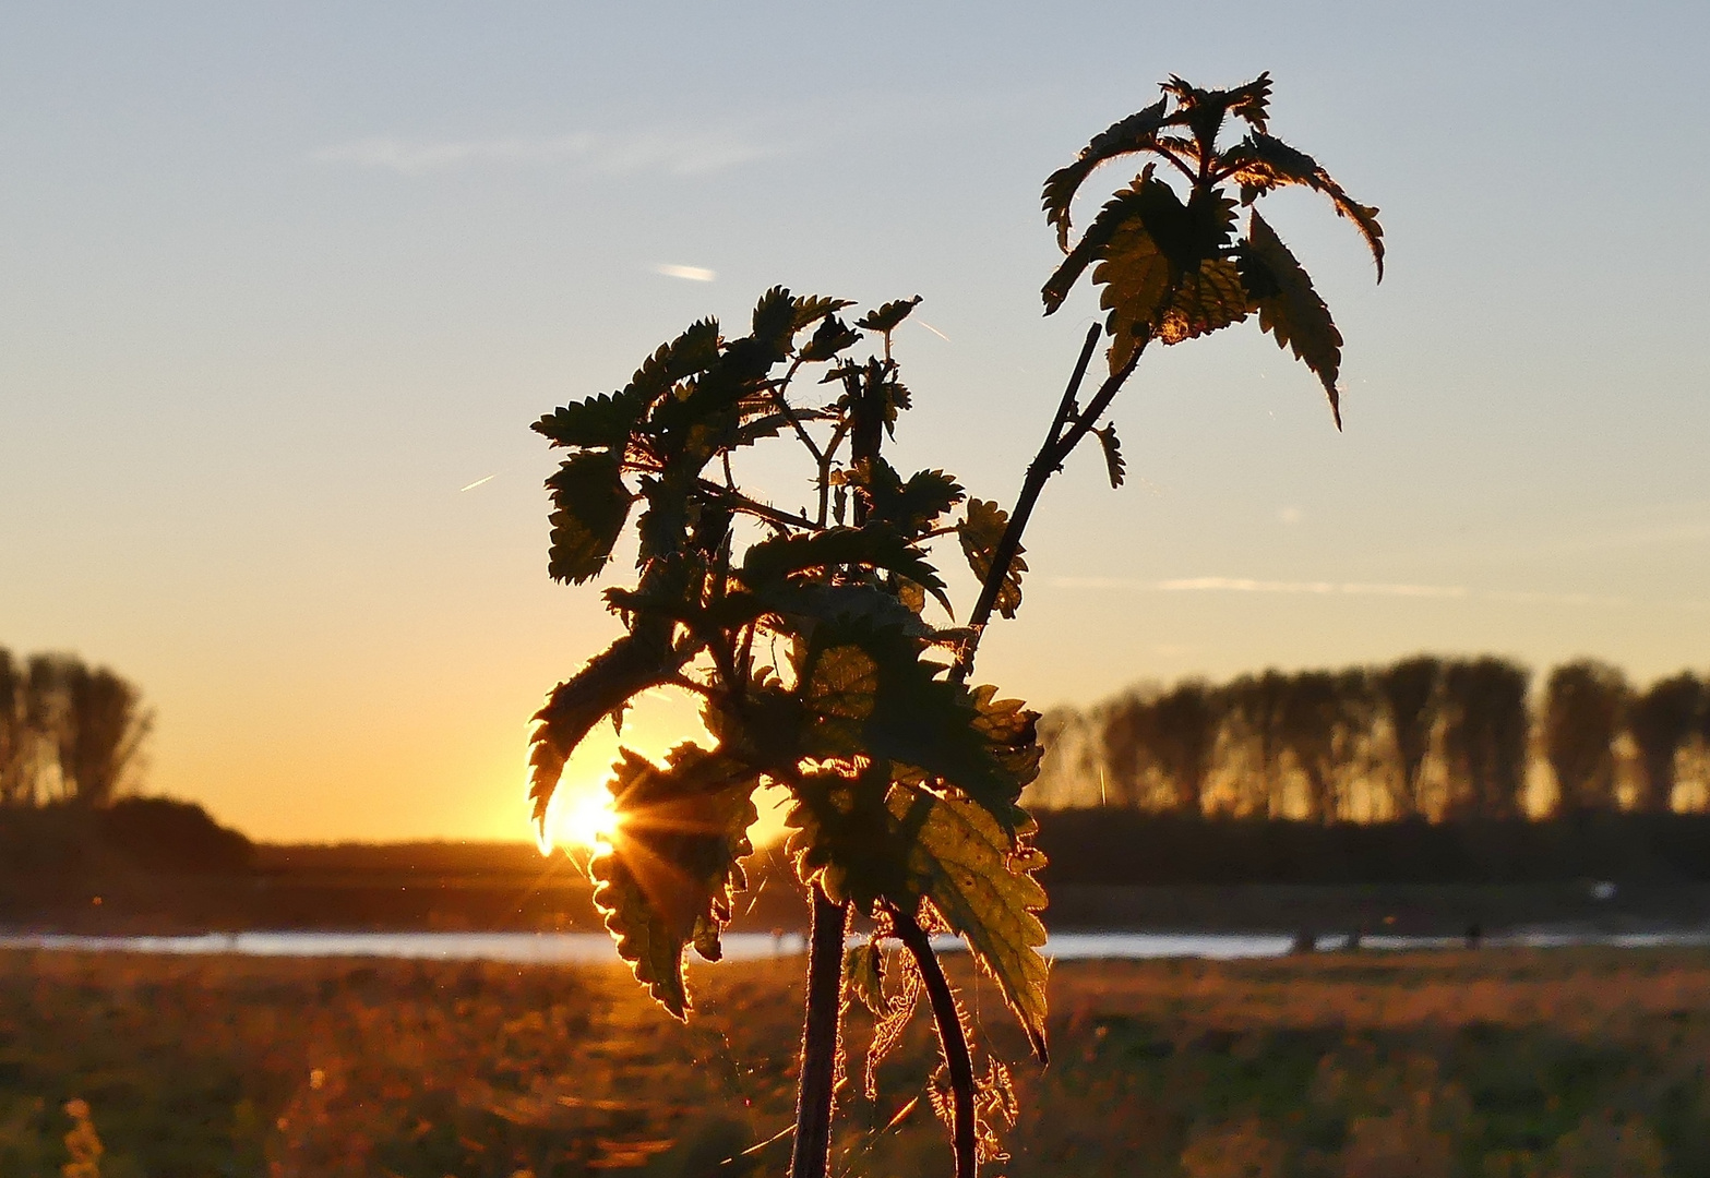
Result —
<instances>
[{"instance_id":1,"label":"rounded bare tree just right of the gap in the right-hand row","mask_svg":"<svg viewBox=\"0 0 1710 1178\"><path fill-rule=\"evenodd\" d=\"M1580 658L1556 667L1544 691L1544 756L1556 773L1558 809L1613 810L1614 739L1630 698L1609 663Z\"/></svg>"}]
</instances>

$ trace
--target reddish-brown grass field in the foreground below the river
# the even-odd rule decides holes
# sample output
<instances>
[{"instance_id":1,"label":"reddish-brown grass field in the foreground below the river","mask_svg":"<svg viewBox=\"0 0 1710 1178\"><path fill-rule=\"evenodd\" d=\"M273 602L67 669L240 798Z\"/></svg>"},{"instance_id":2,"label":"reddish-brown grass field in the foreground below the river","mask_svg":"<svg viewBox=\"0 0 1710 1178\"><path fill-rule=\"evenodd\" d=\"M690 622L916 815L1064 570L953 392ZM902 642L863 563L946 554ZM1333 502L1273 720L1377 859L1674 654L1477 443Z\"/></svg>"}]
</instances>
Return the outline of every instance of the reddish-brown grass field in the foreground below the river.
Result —
<instances>
[{"instance_id":1,"label":"reddish-brown grass field in the foreground below the river","mask_svg":"<svg viewBox=\"0 0 1710 1178\"><path fill-rule=\"evenodd\" d=\"M1710 1176L1705 952L1064 964L1043 1072L964 964L1019 1098L987 1175ZM0 1175L92 1157L70 1101L103 1178L778 1175L799 968L698 969L682 1026L617 968L0 954ZM834 1173L947 1175L929 1101L886 1128L929 1028L876 1101L869 1029Z\"/></svg>"}]
</instances>

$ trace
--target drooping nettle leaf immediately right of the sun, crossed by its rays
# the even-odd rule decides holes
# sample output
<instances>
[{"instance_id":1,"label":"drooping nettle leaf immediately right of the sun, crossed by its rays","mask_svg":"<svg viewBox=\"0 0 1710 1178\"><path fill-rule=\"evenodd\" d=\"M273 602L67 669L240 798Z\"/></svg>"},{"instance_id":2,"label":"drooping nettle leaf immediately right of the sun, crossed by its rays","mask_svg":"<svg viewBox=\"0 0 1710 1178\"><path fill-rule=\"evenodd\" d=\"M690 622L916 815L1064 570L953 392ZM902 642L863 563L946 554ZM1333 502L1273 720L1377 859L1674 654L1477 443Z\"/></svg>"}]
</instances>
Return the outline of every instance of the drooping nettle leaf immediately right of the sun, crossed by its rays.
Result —
<instances>
[{"instance_id":1,"label":"drooping nettle leaf immediately right of the sun, crossed by its rays","mask_svg":"<svg viewBox=\"0 0 1710 1178\"><path fill-rule=\"evenodd\" d=\"M746 886L742 857L758 812L759 781L746 764L693 744L663 766L622 751L612 766L616 824L610 851L588 865L593 903L636 980L675 1017L684 1017L682 952L722 956L720 927L732 894Z\"/></svg>"}]
</instances>

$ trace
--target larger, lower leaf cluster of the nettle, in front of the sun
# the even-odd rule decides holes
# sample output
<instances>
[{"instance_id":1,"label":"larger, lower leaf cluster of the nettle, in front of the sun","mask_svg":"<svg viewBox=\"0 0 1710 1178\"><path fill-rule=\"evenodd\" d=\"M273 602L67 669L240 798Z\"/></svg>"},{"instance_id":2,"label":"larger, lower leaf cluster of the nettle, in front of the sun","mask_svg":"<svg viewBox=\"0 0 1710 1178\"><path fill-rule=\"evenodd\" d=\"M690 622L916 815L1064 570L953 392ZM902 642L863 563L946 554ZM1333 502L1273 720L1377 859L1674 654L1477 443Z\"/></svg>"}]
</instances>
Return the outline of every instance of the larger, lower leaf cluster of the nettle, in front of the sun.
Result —
<instances>
[{"instance_id":1,"label":"larger, lower leaf cluster of the nettle, in front of the sun","mask_svg":"<svg viewBox=\"0 0 1710 1178\"><path fill-rule=\"evenodd\" d=\"M1005 516L942 470L905 477L881 455L911 405L891 333L917 303L850 323L846 301L778 287L747 333L701 320L624 388L535 424L568 451L547 480L552 576L600 576L629 528L638 552L634 581L605 592L622 636L535 716L535 819L593 725L640 692L689 689L716 745L663 764L626 749L610 850L592 863L607 928L653 997L681 1017L686 951L718 957L752 795L776 783L804 884L869 915L942 916L1043 1046L1043 858L1017 804L1040 768L1038 715L949 674L968 633L932 554L954 533L983 578ZM858 357L870 335L882 349ZM732 458L771 439L805 453L817 506L781 509L735 482ZM1009 568L1005 614L1024 569Z\"/></svg>"}]
</instances>

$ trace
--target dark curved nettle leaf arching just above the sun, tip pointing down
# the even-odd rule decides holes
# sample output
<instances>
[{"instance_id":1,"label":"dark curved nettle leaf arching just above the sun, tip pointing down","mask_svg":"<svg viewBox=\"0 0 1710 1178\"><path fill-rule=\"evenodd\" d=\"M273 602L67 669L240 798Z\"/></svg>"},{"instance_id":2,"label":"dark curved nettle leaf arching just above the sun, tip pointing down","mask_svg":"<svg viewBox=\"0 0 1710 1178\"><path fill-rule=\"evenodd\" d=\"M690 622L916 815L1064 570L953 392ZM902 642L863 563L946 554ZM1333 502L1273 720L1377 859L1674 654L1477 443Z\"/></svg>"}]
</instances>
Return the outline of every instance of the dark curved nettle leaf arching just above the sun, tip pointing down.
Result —
<instances>
[{"instance_id":1,"label":"dark curved nettle leaf arching just above the sun, tip pointing down","mask_svg":"<svg viewBox=\"0 0 1710 1178\"><path fill-rule=\"evenodd\" d=\"M535 713L535 730L528 737L528 797L535 824L545 822L564 763L593 725L622 713L634 696L667 682L681 665L682 658L665 636L648 629L619 638L573 679L552 689L545 706Z\"/></svg>"}]
</instances>

